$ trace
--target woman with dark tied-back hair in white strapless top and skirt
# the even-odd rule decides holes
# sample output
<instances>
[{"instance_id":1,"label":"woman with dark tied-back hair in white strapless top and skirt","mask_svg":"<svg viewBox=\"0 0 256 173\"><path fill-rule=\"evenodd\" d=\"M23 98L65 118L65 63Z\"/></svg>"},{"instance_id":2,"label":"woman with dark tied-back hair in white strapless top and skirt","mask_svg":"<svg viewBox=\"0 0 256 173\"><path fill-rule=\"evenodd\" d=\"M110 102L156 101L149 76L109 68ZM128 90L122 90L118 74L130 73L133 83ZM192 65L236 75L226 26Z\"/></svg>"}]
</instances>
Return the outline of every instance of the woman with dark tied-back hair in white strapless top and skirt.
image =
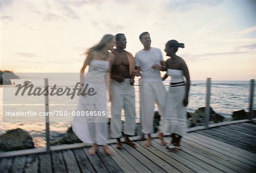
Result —
<instances>
[{"instance_id":1,"label":"woman with dark tied-back hair in white strapless top and skirt","mask_svg":"<svg viewBox=\"0 0 256 173\"><path fill-rule=\"evenodd\" d=\"M179 48L184 48L183 43L170 40L166 43L164 51L170 58L166 61L167 73L163 80L171 76L171 83L166 96L164 110L163 133L171 133L169 151L180 149L181 137L187 128L187 105L190 78L188 67L183 58L176 55ZM184 81L185 77L185 81Z\"/></svg>"}]
</instances>

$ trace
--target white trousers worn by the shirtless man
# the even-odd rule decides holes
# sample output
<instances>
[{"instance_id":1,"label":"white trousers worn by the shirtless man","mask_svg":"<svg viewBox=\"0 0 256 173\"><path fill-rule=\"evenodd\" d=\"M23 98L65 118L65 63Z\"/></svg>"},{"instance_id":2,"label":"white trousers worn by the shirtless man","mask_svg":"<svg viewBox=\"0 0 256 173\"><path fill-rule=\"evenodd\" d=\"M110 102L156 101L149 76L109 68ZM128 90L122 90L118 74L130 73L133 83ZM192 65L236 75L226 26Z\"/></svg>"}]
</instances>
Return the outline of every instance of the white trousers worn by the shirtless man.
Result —
<instances>
[{"instance_id":1,"label":"white trousers worn by the shirtless man","mask_svg":"<svg viewBox=\"0 0 256 173\"><path fill-rule=\"evenodd\" d=\"M123 126L123 133L134 136L135 134L135 94L134 87L130 85L130 79L125 79L124 82L112 81L112 104L111 112L112 119L110 121L110 127L112 132L112 138L122 137L122 121L121 111L125 110L125 122Z\"/></svg>"}]
</instances>

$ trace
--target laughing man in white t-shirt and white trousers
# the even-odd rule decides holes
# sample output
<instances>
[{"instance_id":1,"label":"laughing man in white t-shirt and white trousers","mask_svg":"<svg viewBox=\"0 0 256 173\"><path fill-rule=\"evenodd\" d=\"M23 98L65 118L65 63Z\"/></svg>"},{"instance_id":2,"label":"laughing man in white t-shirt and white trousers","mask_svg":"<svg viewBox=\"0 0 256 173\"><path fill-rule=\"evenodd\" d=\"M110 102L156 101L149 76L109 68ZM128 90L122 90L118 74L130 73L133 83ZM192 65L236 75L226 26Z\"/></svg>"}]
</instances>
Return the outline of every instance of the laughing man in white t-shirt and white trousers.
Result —
<instances>
[{"instance_id":1,"label":"laughing man in white t-shirt and white trousers","mask_svg":"<svg viewBox=\"0 0 256 173\"><path fill-rule=\"evenodd\" d=\"M166 67L161 50L150 47L150 34L148 32L141 33L139 40L141 40L144 49L135 54L135 69L142 71L140 85L142 133L147 134L144 145L150 146L155 102L158 104L160 115L163 116L166 88L162 83L160 70L165 71ZM161 128L162 118L159 125L159 138L162 144L166 145L163 140L163 133L160 131Z\"/></svg>"}]
</instances>

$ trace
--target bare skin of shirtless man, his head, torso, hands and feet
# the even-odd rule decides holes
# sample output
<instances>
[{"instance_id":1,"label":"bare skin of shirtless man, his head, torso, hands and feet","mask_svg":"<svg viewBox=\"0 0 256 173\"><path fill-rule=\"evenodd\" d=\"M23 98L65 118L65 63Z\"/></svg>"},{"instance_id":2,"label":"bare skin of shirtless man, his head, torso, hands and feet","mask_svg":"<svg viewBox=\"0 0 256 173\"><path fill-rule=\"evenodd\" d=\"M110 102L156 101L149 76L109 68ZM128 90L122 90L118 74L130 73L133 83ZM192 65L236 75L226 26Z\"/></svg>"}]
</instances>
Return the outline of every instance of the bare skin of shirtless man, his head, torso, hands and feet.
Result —
<instances>
[{"instance_id":1,"label":"bare skin of shirtless man, his head, torso, hands and feet","mask_svg":"<svg viewBox=\"0 0 256 173\"><path fill-rule=\"evenodd\" d=\"M112 65L112 75L111 78L119 83L123 82L126 78L130 78L130 85L134 83L134 77L130 76L129 73L129 61L126 53L126 37L125 35L121 35L117 40L117 48L114 50L115 59ZM130 141L129 136L125 134L126 144L136 147L136 145ZM123 147L120 138L117 138L117 148L121 149Z\"/></svg>"}]
</instances>

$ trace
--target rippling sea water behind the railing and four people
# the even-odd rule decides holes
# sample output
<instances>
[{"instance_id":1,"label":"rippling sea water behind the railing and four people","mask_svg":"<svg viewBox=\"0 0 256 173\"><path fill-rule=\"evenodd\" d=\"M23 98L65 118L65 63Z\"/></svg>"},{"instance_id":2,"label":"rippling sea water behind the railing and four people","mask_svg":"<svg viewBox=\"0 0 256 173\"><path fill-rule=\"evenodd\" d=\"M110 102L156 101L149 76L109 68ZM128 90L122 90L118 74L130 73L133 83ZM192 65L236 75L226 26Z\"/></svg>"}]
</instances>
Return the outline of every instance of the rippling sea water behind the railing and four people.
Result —
<instances>
[{"instance_id":1,"label":"rippling sea water behind the railing and four people","mask_svg":"<svg viewBox=\"0 0 256 173\"><path fill-rule=\"evenodd\" d=\"M164 81L164 85L168 89L168 83L170 81ZM194 112L197 108L205 107L206 98L206 81L192 81L191 88L189 91L189 103L187 107L188 112ZM254 87L254 103L253 109L256 109L256 88ZM0 98L3 103L3 88L0 87ZM210 94L210 106L213 110L220 115L224 116L226 120L230 120L233 111L238 111L240 109L249 110L249 100L250 100L250 81L212 81L211 94ZM4 100L6 101L6 100ZM8 103L12 101L9 100ZM6 102L4 102L6 103ZM28 106L35 109L45 109L44 98L40 98L38 103L30 103ZM3 105L3 104L2 104ZM74 111L77 106L77 98L65 99L58 96L53 96L49 98L49 111L53 109ZM19 111L25 105L15 104L11 106L13 111ZM108 104L108 109L110 105ZM135 82L135 107L137 113L137 122L139 122L139 86L138 81ZM158 111L158 107L155 105L155 110ZM122 112L123 114L123 112ZM123 117L124 119L124 117ZM63 119L62 119L63 120ZM54 140L65 133L68 126L72 124L72 116L65 117L64 121L54 120L52 117L50 121L50 131L51 140ZM22 122L22 117L20 117L20 122ZM6 123L3 122L3 107L0 107L0 134L5 133L6 130L11 130L15 128L22 128L31 134L36 147L44 147L45 142L45 123L44 118L42 121L37 121L38 123L27 122L15 122Z\"/></svg>"}]
</instances>

